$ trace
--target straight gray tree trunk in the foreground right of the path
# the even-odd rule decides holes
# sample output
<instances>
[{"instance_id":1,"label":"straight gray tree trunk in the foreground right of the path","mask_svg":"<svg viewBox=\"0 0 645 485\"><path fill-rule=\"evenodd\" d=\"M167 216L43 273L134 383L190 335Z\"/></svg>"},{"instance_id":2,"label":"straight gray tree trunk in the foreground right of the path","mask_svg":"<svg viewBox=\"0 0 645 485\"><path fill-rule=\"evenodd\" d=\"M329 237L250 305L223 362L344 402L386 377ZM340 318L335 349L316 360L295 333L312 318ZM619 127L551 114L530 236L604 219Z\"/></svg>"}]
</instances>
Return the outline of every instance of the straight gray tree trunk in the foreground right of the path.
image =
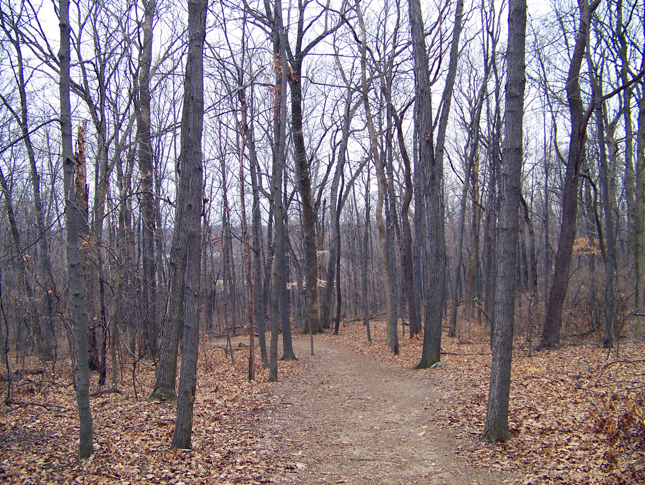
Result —
<instances>
[{"instance_id":1,"label":"straight gray tree trunk in the foreground right of the path","mask_svg":"<svg viewBox=\"0 0 645 485\"><path fill-rule=\"evenodd\" d=\"M490 442L510 439L508 399L511 385L513 317L515 316L515 263L519 231L519 203L522 175L522 119L524 117L524 46L526 41L526 0L510 0L508 7L508 48L506 51L506 108L504 119L504 164L497 223L497 291L495 292L495 333L488 390L488 411L482 439Z\"/></svg>"}]
</instances>

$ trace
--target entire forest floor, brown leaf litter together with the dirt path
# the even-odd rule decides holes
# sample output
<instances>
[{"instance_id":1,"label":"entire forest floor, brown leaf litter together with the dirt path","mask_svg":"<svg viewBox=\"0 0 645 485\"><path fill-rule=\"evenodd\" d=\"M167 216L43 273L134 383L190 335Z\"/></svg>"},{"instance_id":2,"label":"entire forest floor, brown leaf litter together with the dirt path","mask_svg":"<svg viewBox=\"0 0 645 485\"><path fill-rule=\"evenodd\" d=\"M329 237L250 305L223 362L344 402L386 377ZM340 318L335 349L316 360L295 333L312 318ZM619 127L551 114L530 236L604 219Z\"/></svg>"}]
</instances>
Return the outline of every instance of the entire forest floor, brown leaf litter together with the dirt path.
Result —
<instances>
[{"instance_id":1,"label":"entire forest floor, brown leaf litter together with the dirt path","mask_svg":"<svg viewBox=\"0 0 645 485\"><path fill-rule=\"evenodd\" d=\"M247 339L200 344L192 450L170 450L174 403L148 401L154 371L125 357L92 373L91 460L79 464L69 361L10 361L0 407L0 483L10 484L636 484L645 483L645 346L594 342L513 353L505 444L484 444L490 350L475 328L442 341L435 370L413 370L421 341L384 346L384 324L294 340L279 382L246 380ZM12 356L13 357L13 356ZM130 363L128 364L128 359ZM259 355L256 357L259 362ZM1 371L0 371L1 372ZM6 371L0 373L5 401Z\"/></svg>"}]
</instances>

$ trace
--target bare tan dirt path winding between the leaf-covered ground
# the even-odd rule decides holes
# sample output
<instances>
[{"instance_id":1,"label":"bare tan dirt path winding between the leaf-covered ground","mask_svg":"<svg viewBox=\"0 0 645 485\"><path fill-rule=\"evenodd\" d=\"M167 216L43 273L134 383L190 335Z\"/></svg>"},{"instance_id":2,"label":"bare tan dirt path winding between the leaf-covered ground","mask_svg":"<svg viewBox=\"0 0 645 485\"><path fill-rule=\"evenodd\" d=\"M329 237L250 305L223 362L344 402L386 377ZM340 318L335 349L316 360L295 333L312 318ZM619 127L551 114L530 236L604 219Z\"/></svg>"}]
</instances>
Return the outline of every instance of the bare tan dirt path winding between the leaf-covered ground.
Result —
<instances>
[{"instance_id":1,"label":"bare tan dirt path winding between the leaf-covered ground","mask_svg":"<svg viewBox=\"0 0 645 485\"><path fill-rule=\"evenodd\" d=\"M296 463L288 484L501 484L510 475L466 467L464 444L429 421L427 380L342 346L293 342L307 368L275 387L259 423L264 450Z\"/></svg>"}]
</instances>

